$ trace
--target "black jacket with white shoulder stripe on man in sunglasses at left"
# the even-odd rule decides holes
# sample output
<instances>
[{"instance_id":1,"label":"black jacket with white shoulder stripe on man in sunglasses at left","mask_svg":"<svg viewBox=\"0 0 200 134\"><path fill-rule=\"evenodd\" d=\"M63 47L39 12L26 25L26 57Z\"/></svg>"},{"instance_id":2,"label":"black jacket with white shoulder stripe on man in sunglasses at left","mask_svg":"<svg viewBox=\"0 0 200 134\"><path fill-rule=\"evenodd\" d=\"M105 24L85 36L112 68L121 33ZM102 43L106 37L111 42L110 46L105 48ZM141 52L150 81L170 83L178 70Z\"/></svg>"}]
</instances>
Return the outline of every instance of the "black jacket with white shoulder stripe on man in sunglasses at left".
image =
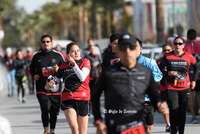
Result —
<instances>
[{"instance_id":1,"label":"black jacket with white shoulder stripe on man in sunglasses at left","mask_svg":"<svg viewBox=\"0 0 200 134\"><path fill-rule=\"evenodd\" d=\"M48 52L40 51L33 56L31 64L29 65L29 71L32 76L35 74L40 76L40 78L36 81L37 92L52 93L50 90L44 89L46 80L49 75L55 76L53 66L55 66L55 64L60 66L62 63L64 63L64 58L61 53L52 49Z\"/></svg>"}]
</instances>

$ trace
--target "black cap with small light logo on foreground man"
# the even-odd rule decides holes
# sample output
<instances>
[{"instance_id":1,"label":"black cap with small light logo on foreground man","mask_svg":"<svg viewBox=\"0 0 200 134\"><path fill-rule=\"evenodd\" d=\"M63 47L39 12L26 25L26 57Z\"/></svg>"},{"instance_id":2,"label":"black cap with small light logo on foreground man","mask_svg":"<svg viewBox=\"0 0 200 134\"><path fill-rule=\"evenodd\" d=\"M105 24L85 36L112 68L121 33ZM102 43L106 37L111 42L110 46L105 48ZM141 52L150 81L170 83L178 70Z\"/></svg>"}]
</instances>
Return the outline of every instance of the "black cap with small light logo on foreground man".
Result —
<instances>
[{"instance_id":1,"label":"black cap with small light logo on foreground man","mask_svg":"<svg viewBox=\"0 0 200 134\"><path fill-rule=\"evenodd\" d=\"M118 40L118 45L122 45L122 44L131 44L131 45L136 45L136 42L137 42L137 39L134 35L132 34L122 34L120 37L119 37L119 40Z\"/></svg>"}]
</instances>

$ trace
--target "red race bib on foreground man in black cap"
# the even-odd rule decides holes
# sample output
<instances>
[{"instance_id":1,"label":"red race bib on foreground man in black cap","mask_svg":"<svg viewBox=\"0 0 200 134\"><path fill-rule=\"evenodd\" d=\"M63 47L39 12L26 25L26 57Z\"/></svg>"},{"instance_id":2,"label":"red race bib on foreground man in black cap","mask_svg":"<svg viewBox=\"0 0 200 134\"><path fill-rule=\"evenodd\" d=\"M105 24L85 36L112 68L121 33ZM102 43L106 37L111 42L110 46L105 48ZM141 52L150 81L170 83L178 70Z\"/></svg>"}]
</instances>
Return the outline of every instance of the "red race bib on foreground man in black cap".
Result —
<instances>
[{"instance_id":1,"label":"red race bib on foreground man in black cap","mask_svg":"<svg viewBox=\"0 0 200 134\"><path fill-rule=\"evenodd\" d=\"M143 125L122 131L121 134L145 134Z\"/></svg>"}]
</instances>

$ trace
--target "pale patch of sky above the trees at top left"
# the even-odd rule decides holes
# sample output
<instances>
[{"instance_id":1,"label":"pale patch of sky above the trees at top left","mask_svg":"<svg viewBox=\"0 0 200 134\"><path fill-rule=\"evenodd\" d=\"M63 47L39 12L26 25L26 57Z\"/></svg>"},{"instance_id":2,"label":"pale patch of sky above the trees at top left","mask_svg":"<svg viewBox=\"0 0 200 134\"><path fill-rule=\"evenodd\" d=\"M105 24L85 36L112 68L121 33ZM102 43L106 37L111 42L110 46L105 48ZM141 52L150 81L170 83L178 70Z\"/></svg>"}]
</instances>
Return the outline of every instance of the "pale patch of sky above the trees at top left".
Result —
<instances>
[{"instance_id":1,"label":"pale patch of sky above the trees at top left","mask_svg":"<svg viewBox=\"0 0 200 134\"><path fill-rule=\"evenodd\" d=\"M28 14L33 13L35 10L40 10L42 5L47 2L58 3L60 0L17 0L16 5L18 8L23 7Z\"/></svg>"}]
</instances>

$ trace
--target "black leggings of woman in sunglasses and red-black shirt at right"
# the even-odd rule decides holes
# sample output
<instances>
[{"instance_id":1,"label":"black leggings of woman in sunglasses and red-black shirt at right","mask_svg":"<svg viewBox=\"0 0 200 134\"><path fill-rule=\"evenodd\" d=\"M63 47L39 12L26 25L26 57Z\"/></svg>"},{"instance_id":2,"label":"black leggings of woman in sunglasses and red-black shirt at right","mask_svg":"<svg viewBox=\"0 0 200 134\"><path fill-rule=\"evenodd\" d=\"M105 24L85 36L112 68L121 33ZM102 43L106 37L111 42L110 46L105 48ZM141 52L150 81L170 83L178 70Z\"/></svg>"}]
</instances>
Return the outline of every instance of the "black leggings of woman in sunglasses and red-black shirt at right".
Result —
<instances>
[{"instance_id":1,"label":"black leggings of woman in sunglasses and red-black shirt at right","mask_svg":"<svg viewBox=\"0 0 200 134\"><path fill-rule=\"evenodd\" d=\"M180 91L167 89L166 92L170 112L171 134L177 133L177 127L179 130L179 134L183 134L185 128L187 103L190 96L190 89Z\"/></svg>"}]
</instances>

